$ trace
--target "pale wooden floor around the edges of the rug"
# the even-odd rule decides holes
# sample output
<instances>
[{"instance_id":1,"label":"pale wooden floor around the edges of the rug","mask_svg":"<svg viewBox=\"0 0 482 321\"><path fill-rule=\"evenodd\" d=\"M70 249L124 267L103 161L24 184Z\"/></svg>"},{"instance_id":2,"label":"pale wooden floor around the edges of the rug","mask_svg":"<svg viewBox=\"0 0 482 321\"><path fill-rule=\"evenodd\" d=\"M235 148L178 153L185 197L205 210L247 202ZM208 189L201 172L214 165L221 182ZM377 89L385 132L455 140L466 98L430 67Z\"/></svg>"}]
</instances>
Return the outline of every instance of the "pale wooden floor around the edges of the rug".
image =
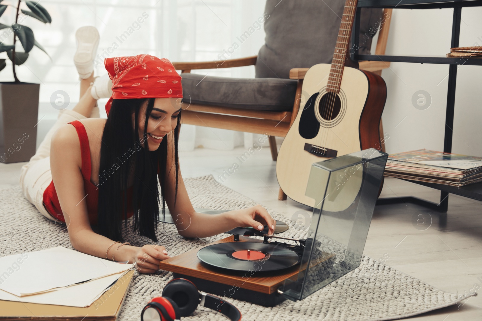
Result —
<instances>
[{"instance_id":1,"label":"pale wooden floor around the edges of the rug","mask_svg":"<svg viewBox=\"0 0 482 321\"><path fill-rule=\"evenodd\" d=\"M182 175L187 178L213 174L219 180L218 175L236 162L240 168L225 176L226 186L286 217L291 218L300 210L309 213L307 206L291 199L277 200L276 163L271 160L269 147L255 151L241 164L237 157L244 152L245 149L239 147L233 151L196 149L181 153ZM23 164L0 164L0 187L18 185L16 177ZM427 187L386 179L381 197L405 195L433 202L438 202L440 197L437 191ZM433 218L425 231L415 228L413 223L419 214ZM389 266L448 292L469 292L474 286L482 288L482 203L450 195L445 229L439 229L437 215L426 208L412 204L377 206L364 254L375 259L385 258ZM482 320L482 295L470 297L459 307L454 305L406 320Z\"/></svg>"}]
</instances>

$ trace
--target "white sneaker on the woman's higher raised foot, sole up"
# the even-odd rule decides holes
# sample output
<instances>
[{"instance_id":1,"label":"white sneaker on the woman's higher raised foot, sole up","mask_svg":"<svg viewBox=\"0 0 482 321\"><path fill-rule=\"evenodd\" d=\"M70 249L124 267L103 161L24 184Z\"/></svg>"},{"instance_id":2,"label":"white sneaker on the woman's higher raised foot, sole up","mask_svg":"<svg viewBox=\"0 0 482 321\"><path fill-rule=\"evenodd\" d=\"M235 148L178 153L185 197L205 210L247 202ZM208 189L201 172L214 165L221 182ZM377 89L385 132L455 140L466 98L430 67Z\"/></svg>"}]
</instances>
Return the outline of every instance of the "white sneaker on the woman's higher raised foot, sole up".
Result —
<instances>
[{"instance_id":1,"label":"white sneaker on the woman's higher raised foot, sole up","mask_svg":"<svg viewBox=\"0 0 482 321\"><path fill-rule=\"evenodd\" d=\"M94 26L84 26L75 32L77 51L74 54L74 64L79 78L88 78L94 72L94 59L99 46L99 32Z\"/></svg>"}]
</instances>

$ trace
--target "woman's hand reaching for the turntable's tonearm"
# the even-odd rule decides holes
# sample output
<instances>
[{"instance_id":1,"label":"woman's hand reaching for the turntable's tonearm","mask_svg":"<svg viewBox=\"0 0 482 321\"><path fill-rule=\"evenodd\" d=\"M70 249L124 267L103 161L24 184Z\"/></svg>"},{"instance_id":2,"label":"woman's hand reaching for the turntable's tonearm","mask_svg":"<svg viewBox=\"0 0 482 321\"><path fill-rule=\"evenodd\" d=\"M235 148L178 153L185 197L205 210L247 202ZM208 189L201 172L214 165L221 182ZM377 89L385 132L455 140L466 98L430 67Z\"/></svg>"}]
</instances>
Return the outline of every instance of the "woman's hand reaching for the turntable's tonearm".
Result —
<instances>
[{"instance_id":1,"label":"woman's hand reaching for the turntable's tonearm","mask_svg":"<svg viewBox=\"0 0 482 321\"><path fill-rule=\"evenodd\" d=\"M265 228L264 225L268 225L268 234L271 235L276 228L276 220L259 204L248 208L232 210L227 213L231 219L241 227L251 226L257 231L263 231Z\"/></svg>"}]
</instances>

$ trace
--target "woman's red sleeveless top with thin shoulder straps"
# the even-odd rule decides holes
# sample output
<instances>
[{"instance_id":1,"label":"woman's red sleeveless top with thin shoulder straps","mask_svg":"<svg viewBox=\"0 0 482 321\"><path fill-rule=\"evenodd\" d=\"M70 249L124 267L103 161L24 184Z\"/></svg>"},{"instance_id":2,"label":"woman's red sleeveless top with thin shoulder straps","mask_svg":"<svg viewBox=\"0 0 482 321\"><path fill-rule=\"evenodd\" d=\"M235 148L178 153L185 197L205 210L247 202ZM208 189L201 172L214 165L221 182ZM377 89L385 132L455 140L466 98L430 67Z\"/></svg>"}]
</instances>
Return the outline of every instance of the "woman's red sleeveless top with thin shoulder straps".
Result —
<instances>
[{"instance_id":1,"label":"woman's red sleeveless top with thin shoulder straps","mask_svg":"<svg viewBox=\"0 0 482 321\"><path fill-rule=\"evenodd\" d=\"M85 200L87 201L87 213L89 215L91 225L96 225L99 190L97 189L97 186L95 186L95 184L90 180L92 173L89 139L87 137L87 132L85 131L84 125L80 121L74 120L68 124L74 125L75 129L77 130L77 134L79 135L80 155L82 158L82 177L84 180L84 192L86 194ZM134 186L131 186L127 189L127 218L130 218L134 215L132 209L133 187ZM54 181L50 182L50 185L43 193L43 205L50 215L65 223L64 214L60 208L59 199L55 191Z\"/></svg>"}]
</instances>

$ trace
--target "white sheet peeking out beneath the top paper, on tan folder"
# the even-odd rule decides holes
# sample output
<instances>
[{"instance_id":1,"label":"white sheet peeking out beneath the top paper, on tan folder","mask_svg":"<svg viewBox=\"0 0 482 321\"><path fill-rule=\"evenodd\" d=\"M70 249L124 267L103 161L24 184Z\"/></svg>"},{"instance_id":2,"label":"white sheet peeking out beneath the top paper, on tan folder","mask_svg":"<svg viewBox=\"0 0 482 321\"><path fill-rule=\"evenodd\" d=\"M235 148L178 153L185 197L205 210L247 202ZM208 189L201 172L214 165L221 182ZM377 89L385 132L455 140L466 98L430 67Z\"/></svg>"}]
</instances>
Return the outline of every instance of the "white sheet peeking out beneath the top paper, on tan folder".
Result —
<instances>
[{"instance_id":1,"label":"white sheet peeking out beneath the top paper, on tan folder","mask_svg":"<svg viewBox=\"0 0 482 321\"><path fill-rule=\"evenodd\" d=\"M111 285L113 285L113 282L117 282L119 279L124 282L129 282L129 279L124 277L127 272L128 270L85 283L75 284L66 288L34 295L16 296L0 290L0 300L84 308L90 306L101 296L105 296L105 299L107 299L108 295L112 294L113 290L109 289L112 287ZM104 302L105 300L101 300L98 305L101 305Z\"/></svg>"}]
</instances>

